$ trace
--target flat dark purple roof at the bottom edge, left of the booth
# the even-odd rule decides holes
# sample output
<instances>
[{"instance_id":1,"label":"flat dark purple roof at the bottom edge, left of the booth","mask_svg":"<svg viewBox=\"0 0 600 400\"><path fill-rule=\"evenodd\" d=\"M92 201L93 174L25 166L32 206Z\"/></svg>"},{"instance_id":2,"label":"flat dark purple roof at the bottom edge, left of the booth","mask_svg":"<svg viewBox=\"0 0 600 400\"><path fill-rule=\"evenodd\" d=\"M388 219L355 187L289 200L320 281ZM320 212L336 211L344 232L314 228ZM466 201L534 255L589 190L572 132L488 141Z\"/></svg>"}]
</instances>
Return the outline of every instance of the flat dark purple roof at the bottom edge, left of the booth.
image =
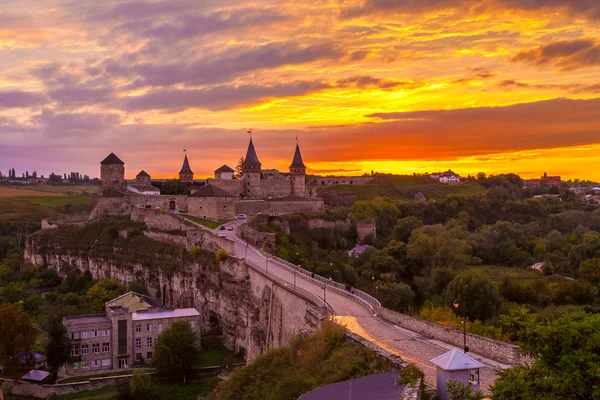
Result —
<instances>
[{"instance_id":1,"label":"flat dark purple roof at the bottom edge, left of the booth","mask_svg":"<svg viewBox=\"0 0 600 400\"><path fill-rule=\"evenodd\" d=\"M404 386L396 385L397 381L397 372L369 375L322 386L298 400L398 400L402 398Z\"/></svg>"}]
</instances>

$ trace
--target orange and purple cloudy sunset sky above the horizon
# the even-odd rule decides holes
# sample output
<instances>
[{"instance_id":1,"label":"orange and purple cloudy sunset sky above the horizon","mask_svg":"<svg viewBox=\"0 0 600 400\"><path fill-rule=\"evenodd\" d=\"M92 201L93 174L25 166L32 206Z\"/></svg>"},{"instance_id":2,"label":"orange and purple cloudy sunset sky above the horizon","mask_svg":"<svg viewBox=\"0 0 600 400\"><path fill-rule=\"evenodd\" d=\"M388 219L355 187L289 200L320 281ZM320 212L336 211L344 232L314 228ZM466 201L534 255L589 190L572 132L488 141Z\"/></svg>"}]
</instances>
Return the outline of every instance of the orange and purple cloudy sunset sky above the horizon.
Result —
<instances>
[{"instance_id":1,"label":"orange and purple cloudy sunset sky above the horizon","mask_svg":"<svg viewBox=\"0 0 600 400\"><path fill-rule=\"evenodd\" d=\"M0 0L0 171L600 180L598 0Z\"/></svg>"}]
</instances>

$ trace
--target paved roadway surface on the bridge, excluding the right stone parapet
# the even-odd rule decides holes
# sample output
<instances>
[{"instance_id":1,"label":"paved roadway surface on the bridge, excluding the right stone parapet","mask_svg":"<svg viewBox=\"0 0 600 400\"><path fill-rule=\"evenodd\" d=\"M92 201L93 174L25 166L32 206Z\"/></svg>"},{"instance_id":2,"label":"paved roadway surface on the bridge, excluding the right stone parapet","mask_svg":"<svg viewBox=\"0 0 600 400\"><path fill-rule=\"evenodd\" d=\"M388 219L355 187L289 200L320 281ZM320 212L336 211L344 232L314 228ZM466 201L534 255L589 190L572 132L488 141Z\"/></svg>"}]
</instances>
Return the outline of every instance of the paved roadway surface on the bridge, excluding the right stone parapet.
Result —
<instances>
[{"instance_id":1,"label":"paved roadway surface on the bridge, excluding the right stone parapet","mask_svg":"<svg viewBox=\"0 0 600 400\"><path fill-rule=\"evenodd\" d=\"M429 360L456 348L456 346L440 342L438 340L425 337L419 333L390 324L380 318L374 317L371 312L360 302L347 296L323 290L320 282L304 277L301 274L294 274L289 268L273 261L266 261L256 249L249 247L245 242L235 236L235 229L242 221L232 222L233 231L216 229L214 232L225 233L226 237L235 242L235 255L239 258L246 258L249 263L259 268L268 269L268 272L275 274L289 282L294 282L296 275L296 285L302 287L321 298L325 298L335 312L335 320L345 325L352 332L378 344L384 349L402 357L404 360L413 362L425 373L425 381L431 386L435 386L435 367ZM459 350L462 350L459 348ZM481 389L487 392L489 386L496 379L496 369L510 367L509 365L488 359L475 353L469 355L483 365L480 371Z\"/></svg>"}]
</instances>

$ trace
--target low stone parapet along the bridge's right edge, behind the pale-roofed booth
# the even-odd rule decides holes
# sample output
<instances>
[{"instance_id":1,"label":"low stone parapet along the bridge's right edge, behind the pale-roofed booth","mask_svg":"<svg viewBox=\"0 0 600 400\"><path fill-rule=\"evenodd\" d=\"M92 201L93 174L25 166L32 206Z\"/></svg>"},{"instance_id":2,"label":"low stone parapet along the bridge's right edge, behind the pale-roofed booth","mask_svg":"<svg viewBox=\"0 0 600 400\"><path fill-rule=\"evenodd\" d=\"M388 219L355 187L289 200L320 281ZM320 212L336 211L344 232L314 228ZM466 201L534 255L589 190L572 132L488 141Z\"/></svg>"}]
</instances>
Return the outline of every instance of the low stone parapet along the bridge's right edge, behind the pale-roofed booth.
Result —
<instances>
[{"instance_id":1,"label":"low stone parapet along the bridge's right edge, behind the pale-roofed booth","mask_svg":"<svg viewBox=\"0 0 600 400\"><path fill-rule=\"evenodd\" d=\"M396 311L380 308L377 316L402 328L418 332L430 338L462 347L464 343L463 332L446 328L432 322L423 321ZM531 361L527 356L521 354L518 346L510 343L500 342L484 336L467 333L467 345L470 351L482 356L498 360L507 364L523 364Z\"/></svg>"}]
</instances>

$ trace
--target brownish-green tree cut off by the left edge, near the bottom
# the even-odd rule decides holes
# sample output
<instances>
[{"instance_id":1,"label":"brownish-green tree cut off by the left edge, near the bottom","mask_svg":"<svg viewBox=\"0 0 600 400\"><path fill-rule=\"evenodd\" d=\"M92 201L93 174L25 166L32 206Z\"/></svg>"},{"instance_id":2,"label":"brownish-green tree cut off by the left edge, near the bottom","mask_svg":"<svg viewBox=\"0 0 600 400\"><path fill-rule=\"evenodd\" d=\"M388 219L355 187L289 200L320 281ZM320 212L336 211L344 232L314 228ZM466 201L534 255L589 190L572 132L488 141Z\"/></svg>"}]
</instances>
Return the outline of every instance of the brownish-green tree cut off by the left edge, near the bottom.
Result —
<instances>
[{"instance_id":1,"label":"brownish-green tree cut off by the left edge, near the bottom","mask_svg":"<svg viewBox=\"0 0 600 400\"><path fill-rule=\"evenodd\" d=\"M36 330L27 314L12 304L0 306L0 364L9 372L19 366L19 353L30 351Z\"/></svg>"}]
</instances>

